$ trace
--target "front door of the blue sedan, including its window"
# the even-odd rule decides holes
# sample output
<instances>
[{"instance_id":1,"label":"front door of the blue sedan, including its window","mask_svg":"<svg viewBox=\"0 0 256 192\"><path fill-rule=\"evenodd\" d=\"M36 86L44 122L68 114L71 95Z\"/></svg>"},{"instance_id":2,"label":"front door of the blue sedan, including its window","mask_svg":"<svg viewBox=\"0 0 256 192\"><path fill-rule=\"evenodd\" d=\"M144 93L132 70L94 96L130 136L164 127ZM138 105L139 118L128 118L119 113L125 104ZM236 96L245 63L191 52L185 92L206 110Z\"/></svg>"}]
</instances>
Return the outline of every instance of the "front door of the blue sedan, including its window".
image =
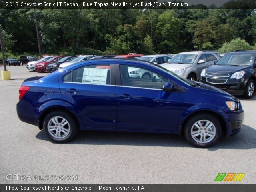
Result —
<instances>
[{"instance_id":1,"label":"front door of the blue sedan, including its window","mask_svg":"<svg viewBox=\"0 0 256 192\"><path fill-rule=\"evenodd\" d=\"M120 64L116 69L117 128L174 132L180 115L180 95L161 89L168 78L134 65ZM133 76L131 69L153 75Z\"/></svg>"}]
</instances>

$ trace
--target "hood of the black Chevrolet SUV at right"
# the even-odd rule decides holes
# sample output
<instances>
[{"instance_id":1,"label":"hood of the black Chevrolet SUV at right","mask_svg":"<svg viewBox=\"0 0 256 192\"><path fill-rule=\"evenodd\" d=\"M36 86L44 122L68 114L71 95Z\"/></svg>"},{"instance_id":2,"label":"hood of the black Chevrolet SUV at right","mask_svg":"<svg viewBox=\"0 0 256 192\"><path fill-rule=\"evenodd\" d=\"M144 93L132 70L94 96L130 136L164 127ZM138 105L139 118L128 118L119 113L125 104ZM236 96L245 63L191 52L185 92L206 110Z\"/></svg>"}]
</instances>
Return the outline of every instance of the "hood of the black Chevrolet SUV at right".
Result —
<instances>
[{"instance_id":1,"label":"hood of the black Chevrolet SUV at right","mask_svg":"<svg viewBox=\"0 0 256 192\"><path fill-rule=\"evenodd\" d=\"M246 70L250 66L232 66L232 65L211 65L206 69L206 73L234 74L235 72Z\"/></svg>"}]
</instances>

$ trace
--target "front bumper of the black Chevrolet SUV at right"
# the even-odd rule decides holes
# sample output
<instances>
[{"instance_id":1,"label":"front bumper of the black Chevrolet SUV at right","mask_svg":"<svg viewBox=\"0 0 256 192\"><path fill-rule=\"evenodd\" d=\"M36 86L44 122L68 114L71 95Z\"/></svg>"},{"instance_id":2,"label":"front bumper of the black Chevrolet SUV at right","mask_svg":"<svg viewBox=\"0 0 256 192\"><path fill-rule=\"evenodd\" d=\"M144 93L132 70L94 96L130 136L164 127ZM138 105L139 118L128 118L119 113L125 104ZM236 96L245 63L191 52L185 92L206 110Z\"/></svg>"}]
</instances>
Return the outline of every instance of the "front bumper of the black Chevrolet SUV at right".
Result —
<instances>
[{"instance_id":1,"label":"front bumper of the black Chevrolet SUV at right","mask_svg":"<svg viewBox=\"0 0 256 192\"><path fill-rule=\"evenodd\" d=\"M225 84L212 84L206 82L205 77L200 77L200 82L220 88L226 92L229 92L232 95L243 95L245 90L245 84L242 81L237 80L228 80Z\"/></svg>"}]
</instances>

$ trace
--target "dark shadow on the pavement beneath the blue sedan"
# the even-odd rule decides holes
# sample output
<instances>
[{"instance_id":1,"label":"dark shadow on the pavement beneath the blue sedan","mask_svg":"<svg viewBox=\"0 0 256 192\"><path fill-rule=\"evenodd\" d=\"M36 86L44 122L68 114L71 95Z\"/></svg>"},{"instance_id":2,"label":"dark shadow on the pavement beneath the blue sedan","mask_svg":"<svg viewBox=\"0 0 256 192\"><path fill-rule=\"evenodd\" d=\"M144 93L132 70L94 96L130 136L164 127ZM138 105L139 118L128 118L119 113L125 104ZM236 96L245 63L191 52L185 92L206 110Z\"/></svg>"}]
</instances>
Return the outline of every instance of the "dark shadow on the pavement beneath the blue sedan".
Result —
<instances>
[{"instance_id":1,"label":"dark shadow on the pavement beneath the blue sedan","mask_svg":"<svg viewBox=\"0 0 256 192\"><path fill-rule=\"evenodd\" d=\"M40 131L36 138L49 141L44 131ZM216 145L208 150L253 149L256 148L255 138L256 130L244 125L238 134L227 138L223 136ZM175 134L103 131L80 131L78 136L67 144L192 147L184 137L180 138Z\"/></svg>"}]
</instances>

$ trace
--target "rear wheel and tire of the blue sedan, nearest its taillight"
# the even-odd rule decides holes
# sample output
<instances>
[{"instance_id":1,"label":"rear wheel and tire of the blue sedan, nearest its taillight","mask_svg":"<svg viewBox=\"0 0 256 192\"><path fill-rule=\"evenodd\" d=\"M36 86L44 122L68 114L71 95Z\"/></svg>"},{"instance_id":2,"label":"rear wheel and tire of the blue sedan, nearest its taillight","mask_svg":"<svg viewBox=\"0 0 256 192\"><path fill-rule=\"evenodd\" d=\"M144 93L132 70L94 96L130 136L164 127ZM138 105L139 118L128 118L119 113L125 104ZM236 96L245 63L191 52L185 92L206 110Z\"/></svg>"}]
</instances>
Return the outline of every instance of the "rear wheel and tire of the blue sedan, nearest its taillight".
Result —
<instances>
[{"instance_id":1,"label":"rear wheel and tire of the blue sedan, nearest its taillight","mask_svg":"<svg viewBox=\"0 0 256 192\"><path fill-rule=\"evenodd\" d=\"M48 138L53 142L65 143L76 136L78 125L70 114L62 111L54 111L44 118L43 129Z\"/></svg>"}]
</instances>

